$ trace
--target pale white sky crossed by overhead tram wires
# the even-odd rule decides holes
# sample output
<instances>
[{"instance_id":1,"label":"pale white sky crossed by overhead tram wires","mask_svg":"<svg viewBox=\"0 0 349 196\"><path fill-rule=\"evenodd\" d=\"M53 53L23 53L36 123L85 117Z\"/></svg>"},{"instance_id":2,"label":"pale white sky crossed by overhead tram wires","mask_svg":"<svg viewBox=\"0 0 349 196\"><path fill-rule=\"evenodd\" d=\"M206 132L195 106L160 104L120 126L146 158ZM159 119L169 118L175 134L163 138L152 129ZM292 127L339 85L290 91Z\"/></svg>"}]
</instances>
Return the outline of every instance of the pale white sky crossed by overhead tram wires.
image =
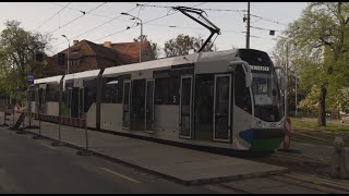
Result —
<instances>
[{"instance_id":1,"label":"pale white sky crossed by overhead tram wires","mask_svg":"<svg viewBox=\"0 0 349 196\"><path fill-rule=\"evenodd\" d=\"M173 11L170 11L166 8L142 7L141 9L141 7L136 7L136 2L107 2L105 4L103 4L104 2L71 2L65 9L61 10L69 2L0 2L0 30L4 28L3 23L5 22L5 20L17 20L22 22L21 26L26 30L51 33L53 38L53 40L51 41L51 46L52 52L55 53L68 48L68 41L64 37L61 36L62 34L67 35L67 37L71 41L71 45L73 40L82 39L91 40L96 44L101 44L107 40L111 42L129 42L132 41L133 38L140 36L141 27L134 26L133 28L124 30L127 26L131 26L134 21L130 20L130 16L121 15L120 13L128 12L133 9L129 13L139 16L143 21L143 23L153 21L157 17L165 16L170 13L170 15L168 16L146 23L143 26L143 34L147 35L149 40L157 42L161 48L164 48L164 44L166 42L166 40L174 38L179 34L191 36L197 36L200 34L203 35L204 38L207 38L209 35L208 29L204 28L193 20L189 19L180 12L171 14L173 13ZM197 9L248 9L248 2L140 3L160 7L194 7L196 4L200 4L195 7ZM103 5L92 11L92 14L86 13L84 16L81 16L83 14L79 10L88 12L89 10L93 10L100 4ZM251 36L257 36L257 38L251 37L250 48L263 50L270 54L273 47L276 44L275 38L281 34L280 30L284 30L286 28L286 25L282 24L288 24L297 20L306 4L306 2L251 2L251 14L261 16L263 19L262 20L252 16L251 26L261 27L264 29L251 28ZM59 14L55 15L58 12ZM237 48L245 47L245 33L242 33L245 32L245 23L243 23L242 20L245 12L240 11L239 13L232 11L206 10L206 17L221 29L221 35L219 35L215 41L218 50L231 49L232 46ZM76 21L63 26L64 24L73 21L76 17L79 17ZM99 26L113 17L118 19L103 26ZM275 22L267 22L264 19ZM41 25L43 23L45 24ZM59 28L60 26L61 28ZM88 32L89 29L97 26L99 27ZM181 26L181 28L173 28L168 26ZM276 30L275 36L269 36L269 32L265 29ZM88 33L81 35L85 32ZM214 36L213 39L216 36ZM52 54L52 52L49 52L49 54Z\"/></svg>"}]
</instances>

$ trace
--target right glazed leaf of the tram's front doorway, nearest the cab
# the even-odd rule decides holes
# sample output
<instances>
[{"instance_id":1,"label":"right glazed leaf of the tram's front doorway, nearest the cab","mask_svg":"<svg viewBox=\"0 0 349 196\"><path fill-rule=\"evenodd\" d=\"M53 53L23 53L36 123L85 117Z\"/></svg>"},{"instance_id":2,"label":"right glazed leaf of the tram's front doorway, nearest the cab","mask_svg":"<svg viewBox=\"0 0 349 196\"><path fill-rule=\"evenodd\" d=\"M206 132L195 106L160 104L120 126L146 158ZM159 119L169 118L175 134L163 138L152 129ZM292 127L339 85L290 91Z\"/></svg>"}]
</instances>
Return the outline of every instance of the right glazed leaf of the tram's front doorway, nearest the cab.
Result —
<instances>
[{"instance_id":1,"label":"right glazed leaf of the tram's front doorway, nearest the cab","mask_svg":"<svg viewBox=\"0 0 349 196\"><path fill-rule=\"evenodd\" d=\"M214 140L230 140L231 75L215 75Z\"/></svg>"}]
</instances>

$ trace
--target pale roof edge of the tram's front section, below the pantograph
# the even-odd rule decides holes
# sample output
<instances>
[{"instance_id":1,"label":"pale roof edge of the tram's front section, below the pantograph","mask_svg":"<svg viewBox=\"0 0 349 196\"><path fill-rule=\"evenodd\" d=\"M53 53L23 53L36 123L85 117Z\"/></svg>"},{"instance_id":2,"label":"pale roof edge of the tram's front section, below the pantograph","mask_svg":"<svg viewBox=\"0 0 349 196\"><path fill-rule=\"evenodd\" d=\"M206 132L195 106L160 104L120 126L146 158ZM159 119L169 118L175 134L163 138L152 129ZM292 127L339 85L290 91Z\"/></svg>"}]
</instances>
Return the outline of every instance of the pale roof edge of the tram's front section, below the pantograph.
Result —
<instances>
[{"instance_id":1,"label":"pale roof edge of the tram's front section, below the pantograph","mask_svg":"<svg viewBox=\"0 0 349 196\"><path fill-rule=\"evenodd\" d=\"M155 70L155 69L161 69L161 68L170 68L173 65L195 63L195 62L200 65L201 62L204 63L208 61L222 61L222 60L228 61L228 60L233 60L234 57L232 56L232 53L236 51L237 50L201 52L201 53L192 53L188 56L146 61L142 63L112 66L112 68L107 68L104 71L103 76L129 73L129 72L140 71L140 70Z\"/></svg>"}]
</instances>

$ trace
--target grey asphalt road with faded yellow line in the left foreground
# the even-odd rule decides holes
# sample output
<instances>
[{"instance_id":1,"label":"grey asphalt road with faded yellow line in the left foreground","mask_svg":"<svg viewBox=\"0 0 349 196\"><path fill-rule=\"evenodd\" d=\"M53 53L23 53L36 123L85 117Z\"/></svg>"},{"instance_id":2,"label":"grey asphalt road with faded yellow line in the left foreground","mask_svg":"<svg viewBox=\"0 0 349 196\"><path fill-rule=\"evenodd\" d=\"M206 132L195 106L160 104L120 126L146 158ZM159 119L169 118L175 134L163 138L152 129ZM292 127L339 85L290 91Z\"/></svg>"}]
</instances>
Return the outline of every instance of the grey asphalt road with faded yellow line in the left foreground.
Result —
<instances>
[{"instance_id":1,"label":"grey asphalt road with faded yellow line in the left foreground","mask_svg":"<svg viewBox=\"0 0 349 196\"><path fill-rule=\"evenodd\" d=\"M0 193L216 193L0 127Z\"/></svg>"}]
</instances>

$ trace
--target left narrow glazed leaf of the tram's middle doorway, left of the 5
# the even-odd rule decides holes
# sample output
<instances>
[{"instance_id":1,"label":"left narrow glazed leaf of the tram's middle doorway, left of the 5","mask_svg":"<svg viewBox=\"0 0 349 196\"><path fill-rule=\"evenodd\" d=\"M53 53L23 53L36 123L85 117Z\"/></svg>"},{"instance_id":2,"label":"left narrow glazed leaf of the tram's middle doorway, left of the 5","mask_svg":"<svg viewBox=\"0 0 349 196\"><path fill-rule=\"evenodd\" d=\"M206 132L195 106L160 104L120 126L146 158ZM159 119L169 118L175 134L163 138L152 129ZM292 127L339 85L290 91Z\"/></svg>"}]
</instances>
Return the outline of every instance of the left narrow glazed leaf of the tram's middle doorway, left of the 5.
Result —
<instances>
[{"instance_id":1,"label":"left narrow glazed leaf of the tram's middle doorway, left of the 5","mask_svg":"<svg viewBox=\"0 0 349 196\"><path fill-rule=\"evenodd\" d=\"M125 81L123 83L123 96L122 96L122 126L130 130L130 97L131 97L131 82Z\"/></svg>"}]
</instances>

